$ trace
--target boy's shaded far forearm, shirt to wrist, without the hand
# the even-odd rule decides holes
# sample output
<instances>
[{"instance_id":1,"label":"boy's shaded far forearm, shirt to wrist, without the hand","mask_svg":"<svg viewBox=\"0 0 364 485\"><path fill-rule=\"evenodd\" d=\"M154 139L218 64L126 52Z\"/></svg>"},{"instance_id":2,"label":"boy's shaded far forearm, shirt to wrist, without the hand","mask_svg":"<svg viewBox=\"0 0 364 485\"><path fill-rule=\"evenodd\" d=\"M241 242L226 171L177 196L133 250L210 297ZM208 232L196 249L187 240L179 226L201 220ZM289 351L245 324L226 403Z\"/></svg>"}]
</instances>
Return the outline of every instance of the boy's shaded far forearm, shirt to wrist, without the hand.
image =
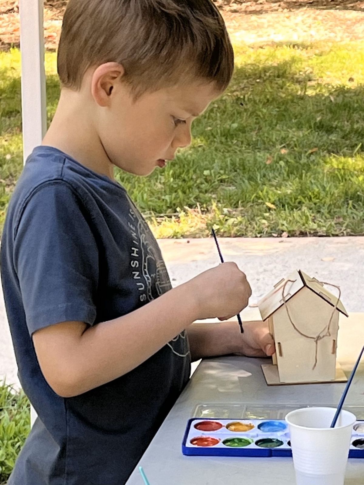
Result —
<instances>
[{"instance_id":1,"label":"boy's shaded far forearm, shirt to wrist, without the hand","mask_svg":"<svg viewBox=\"0 0 364 485\"><path fill-rule=\"evenodd\" d=\"M192 361L203 357L223 356L238 351L237 322L194 323L187 328Z\"/></svg>"}]
</instances>

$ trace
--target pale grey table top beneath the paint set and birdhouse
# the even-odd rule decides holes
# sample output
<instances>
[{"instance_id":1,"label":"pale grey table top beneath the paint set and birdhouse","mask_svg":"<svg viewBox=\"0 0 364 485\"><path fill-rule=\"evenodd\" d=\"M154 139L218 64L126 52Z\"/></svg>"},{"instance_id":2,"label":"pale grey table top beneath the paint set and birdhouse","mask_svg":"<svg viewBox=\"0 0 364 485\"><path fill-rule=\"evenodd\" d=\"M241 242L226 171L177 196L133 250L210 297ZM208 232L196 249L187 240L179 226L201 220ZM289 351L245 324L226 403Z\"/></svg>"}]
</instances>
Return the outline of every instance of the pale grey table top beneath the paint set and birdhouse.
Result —
<instances>
[{"instance_id":1,"label":"pale grey table top beneath the paint set and birdhouse","mask_svg":"<svg viewBox=\"0 0 364 485\"><path fill-rule=\"evenodd\" d=\"M338 361L347 375L364 344L364 313L351 313L340 321ZM183 456L182 437L187 420L200 404L267 404L336 406L345 384L311 384L268 387L260 365L264 359L226 356L203 360L173 406L138 464L150 485L294 485L292 458ZM251 374L251 375L249 375ZM363 406L364 362L359 367L346 400ZM229 416L233 418L234 416ZM221 418L221 416L215 416ZM240 416L235 416L240 418ZM358 416L364 419L364 416ZM138 468L127 485L142 485ZM350 459L345 485L364 484L364 460Z\"/></svg>"}]
</instances>

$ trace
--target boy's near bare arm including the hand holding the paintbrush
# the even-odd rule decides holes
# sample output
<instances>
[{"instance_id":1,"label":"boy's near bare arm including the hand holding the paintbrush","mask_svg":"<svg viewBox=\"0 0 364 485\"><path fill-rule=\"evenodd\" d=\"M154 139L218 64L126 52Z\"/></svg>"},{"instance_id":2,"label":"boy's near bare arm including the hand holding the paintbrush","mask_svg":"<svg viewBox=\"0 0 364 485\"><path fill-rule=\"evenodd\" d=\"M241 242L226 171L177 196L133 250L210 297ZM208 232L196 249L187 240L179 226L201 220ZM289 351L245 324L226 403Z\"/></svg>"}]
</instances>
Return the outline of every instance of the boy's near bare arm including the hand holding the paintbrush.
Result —
<instances>
[{"instance_id":1,"label":"boy's near bare arm including the hand holding the paintbrush","mask_svg":"<svg viewBox=\"0 0 364 485\"><path fill-rule=\"evenodd\" d=\"M250 294L244 273L234 263L220 264L115 320L37 330L35 352L50 387L76 396L132 371L195 320L231 318Z\"/></svg>"}]
</instances>

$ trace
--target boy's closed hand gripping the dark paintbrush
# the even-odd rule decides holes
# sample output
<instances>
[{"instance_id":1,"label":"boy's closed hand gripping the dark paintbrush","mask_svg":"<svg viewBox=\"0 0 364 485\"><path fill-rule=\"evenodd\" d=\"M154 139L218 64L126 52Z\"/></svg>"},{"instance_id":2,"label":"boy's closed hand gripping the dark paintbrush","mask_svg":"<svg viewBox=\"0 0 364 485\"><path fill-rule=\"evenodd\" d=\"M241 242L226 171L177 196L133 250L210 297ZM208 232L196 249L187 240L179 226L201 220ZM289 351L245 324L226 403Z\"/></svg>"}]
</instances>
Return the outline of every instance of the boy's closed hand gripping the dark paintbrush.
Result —
<instances>
[{"instance_id":1,"label":"boy's closed hand gripping the dark paintbrush","mask_svg":"<svg viewBox=\"0 0 364 485\"><path fill-rule=\"evenodd\" d=\"M196 304L196 320L228 320L248 305L251 296L246 275L232 262L204 271L186 285Z\"/></svg>"}]
</instances>

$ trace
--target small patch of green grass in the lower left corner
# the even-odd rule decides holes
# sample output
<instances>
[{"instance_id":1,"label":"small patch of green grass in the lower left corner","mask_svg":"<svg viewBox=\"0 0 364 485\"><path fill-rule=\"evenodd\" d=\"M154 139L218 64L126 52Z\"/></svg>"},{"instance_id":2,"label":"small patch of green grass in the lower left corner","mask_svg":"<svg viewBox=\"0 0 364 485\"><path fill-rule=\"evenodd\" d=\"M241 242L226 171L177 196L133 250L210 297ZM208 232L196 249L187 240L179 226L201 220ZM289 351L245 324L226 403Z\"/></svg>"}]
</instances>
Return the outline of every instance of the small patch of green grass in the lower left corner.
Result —
<instances>
[{"instance_id":1,"label":"small patch of green grass in the lower left corner","mask_svg":"<svg viewBox=\"0 0 364 485\"><path fill-rule=\"evenodd\" d=\"M23 391L0 382L0 484L5 484L30 431L30 406Z\"/></svg>"}]
</instances>

